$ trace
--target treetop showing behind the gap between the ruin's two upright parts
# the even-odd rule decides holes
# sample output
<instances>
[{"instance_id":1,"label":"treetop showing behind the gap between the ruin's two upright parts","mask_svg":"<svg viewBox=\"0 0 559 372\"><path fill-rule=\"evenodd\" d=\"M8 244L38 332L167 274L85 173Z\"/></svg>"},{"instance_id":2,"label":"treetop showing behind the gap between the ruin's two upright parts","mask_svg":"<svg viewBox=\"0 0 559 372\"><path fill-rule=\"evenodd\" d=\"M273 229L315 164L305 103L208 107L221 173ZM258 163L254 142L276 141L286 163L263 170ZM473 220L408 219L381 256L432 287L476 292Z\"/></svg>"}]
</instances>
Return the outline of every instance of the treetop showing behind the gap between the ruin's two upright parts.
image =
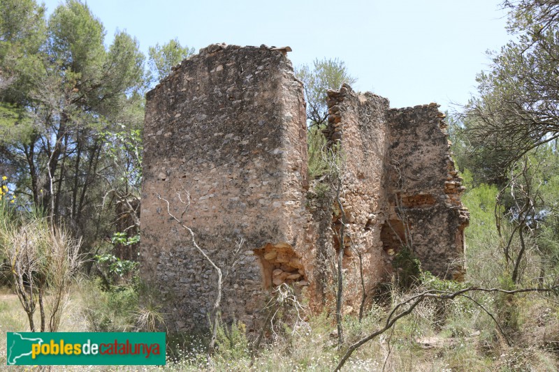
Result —
<instances>
[{"instance_id":1,"label":"treetop showing behind the gap between the ruin's two upright parts","mask_svg":"<svg viewBox=\"0 0 559 372\"><path fill-rule=\"evenodd\" d=\"M344 62L339 59L315 59L312 67L303 65L297 68L296 76L303 82L303 89L305 89L307 119L310 121L310 126L326 124L328 89L340 89L343 83L351 85L357 81L355 77L349 75Z\"/></svg>"}]
</instances>

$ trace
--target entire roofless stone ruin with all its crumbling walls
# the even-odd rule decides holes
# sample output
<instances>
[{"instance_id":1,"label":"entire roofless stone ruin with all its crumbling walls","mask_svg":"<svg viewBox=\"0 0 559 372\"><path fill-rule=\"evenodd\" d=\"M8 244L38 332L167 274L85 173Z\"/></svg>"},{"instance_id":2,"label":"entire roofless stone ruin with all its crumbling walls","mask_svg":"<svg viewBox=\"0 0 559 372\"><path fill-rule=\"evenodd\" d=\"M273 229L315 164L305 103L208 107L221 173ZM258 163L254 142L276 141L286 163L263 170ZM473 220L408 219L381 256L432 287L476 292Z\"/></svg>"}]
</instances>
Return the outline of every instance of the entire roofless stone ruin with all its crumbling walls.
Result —
<instances>
[{"instance_id":1,"label":"entire roofless stone ruin with all its crumbling walls","mask_svg":"<svg viewBox=\"0 0 559 372\"><path fill-rule=\"evenodd\" d=\"M405 245L423 269L460 278L465 188L438 105L391 109L345 84L327 103L324 134L344 158L342 247L332 187L319 195L309 179L303 85L285 49L210 45L147 94L141 273L168 329L208 325L217 295L215 270L168 211L222 268L223 318L249 330L282 283L322 311L340 249L346 314L361 304L356 253L368 293L398 271L392 261Z\"/></svg>"}]
</instances>

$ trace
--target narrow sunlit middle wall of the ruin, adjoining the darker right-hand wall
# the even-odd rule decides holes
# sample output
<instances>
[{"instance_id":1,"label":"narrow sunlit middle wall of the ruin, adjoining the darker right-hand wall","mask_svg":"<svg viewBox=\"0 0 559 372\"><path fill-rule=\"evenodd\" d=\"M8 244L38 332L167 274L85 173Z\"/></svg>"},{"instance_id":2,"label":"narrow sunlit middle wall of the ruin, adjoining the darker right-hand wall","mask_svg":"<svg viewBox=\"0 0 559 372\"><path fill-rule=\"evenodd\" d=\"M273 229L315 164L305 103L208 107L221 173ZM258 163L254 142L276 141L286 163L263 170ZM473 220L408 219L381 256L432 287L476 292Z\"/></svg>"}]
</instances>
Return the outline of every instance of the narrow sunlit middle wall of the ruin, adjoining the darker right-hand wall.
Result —
<instances>
[{"instance_id":1,"label":"narrow sunlit middle wall of the ruin, adjoining the darker right-hand wall","mask_svg":"<svg viewBox=\"0 0 559 372\"><path fill-rule=\"evenodd\" d=\"M340 91L328 91L327 103L328 127L324 134L328 146L338 152L342 161L340 202L345 218L337 207L333 216L333 240L334 248L340 249L344 219L343 309L344 313L358 313L361 267L367 292L389 271L380 239L386 199L384 168L389 147L386 121L389 101L369 92L356 93L344 84Z\"/></svg>"}]
</instances>

